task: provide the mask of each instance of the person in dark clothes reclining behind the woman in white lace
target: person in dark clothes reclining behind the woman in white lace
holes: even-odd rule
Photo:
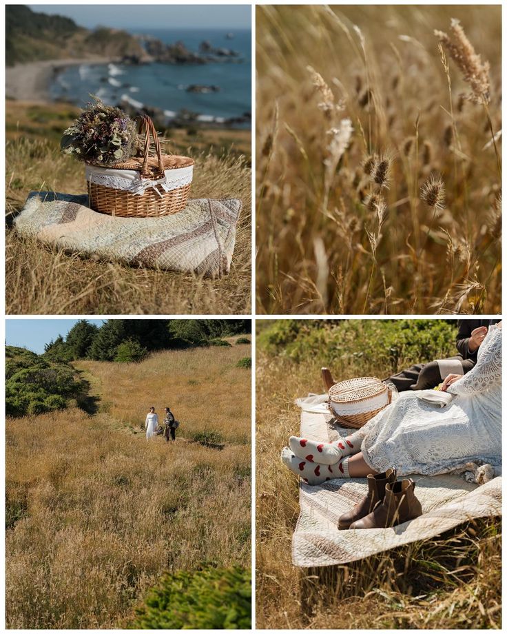
[[[448,359],[438,359],[429,363],[413,365],[389,378],[399,392],[408,389],[433,389],[448,374],[466,374],[477,362],[477,351],[488,333],[491,324],[500,319],[460,319],[456,336],[458,354]]]

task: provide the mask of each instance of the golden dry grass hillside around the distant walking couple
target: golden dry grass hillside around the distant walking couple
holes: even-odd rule
[[[249,346],[79,362],[72,407],[6,424],[8,628],[117,628],[163,571],[250,566]],[[149,405],[175,444],[147,442]],[[215,431],[220,448],[192,438]]]

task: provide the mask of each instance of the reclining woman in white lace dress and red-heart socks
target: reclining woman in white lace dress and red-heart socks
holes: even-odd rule
[[[491,325],[465,374],[450,374],[443,391],[454,394],[442,409],[402,392],[358,431],[338,442],[292,436],[282,462],[309,484],[331,478],[363,478],[393,467],[398,475],[436,475],[466,462],[501,470],[501,323]],[[332,474],[332,475],[331,475]]]

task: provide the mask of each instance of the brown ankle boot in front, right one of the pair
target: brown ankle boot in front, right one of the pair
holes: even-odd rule
[[[384,500],[369,515],[354,522],[349,528],[385,529],[418,518],[422,515],[422,508],[421,502],[414,495],[414,487],[415,482],[408,479],[386,484]]]

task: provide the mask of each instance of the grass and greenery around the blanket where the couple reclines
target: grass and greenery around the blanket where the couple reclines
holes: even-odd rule
[[[448,354],[451,327],[435,327],[431,336],[424,331],[420,323],[413,346],[407,337],[394,369],[411,364],[424,349],[428,356],[423,359],[433,358],[436,350]],[[501,628],[500,518],[476,520],[351,564],[300,569],[291,562],[298,482],[280,461],[280,451],[289,436],[298,435],[294,400],[324,391],[323,365],[335,380],[389,376],[393,354],[388,346],[391,336],[400,341],[401,333],[370,320],[321,327],[304,320],[299,328],[262,321],[256,358],[258,628]],[[366,354],[372,343],[383,354]]]

